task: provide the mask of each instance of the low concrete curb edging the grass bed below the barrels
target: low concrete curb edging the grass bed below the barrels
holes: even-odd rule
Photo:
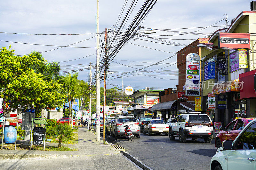
[[[52,159],[52,158],[70,158],[79,155],[42,155],[42,154],[0,154],[0,160],[21,160],[21,159]]]

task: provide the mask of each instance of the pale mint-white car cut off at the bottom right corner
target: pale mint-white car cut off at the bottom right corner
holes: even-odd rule
[[[211,160],[211,170],[256,170],[256,119],[236,139],[224,140]]]

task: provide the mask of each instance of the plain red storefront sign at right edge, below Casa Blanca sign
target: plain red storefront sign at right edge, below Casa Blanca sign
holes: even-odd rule
[[[243,86],[240,88],[240,99],[256,97],[256,70],[248,71],[239,74],[240,83]]]

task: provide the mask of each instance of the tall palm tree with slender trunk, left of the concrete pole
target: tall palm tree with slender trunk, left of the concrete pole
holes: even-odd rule
[[[75,100],[76,97],[79,97],[81,95],[82,91],[82,82],[77,80],[78,74],[75,73],[71,75],[68,73],[67,76],[61,77],[60,82],[63,84],[62,87],[62,93],[66,96],[66,99],[68,100],[69,104],[69,110],[68,110],[68,118],[69,122],[68,124],[71,126],[72,124],[72,103]]]

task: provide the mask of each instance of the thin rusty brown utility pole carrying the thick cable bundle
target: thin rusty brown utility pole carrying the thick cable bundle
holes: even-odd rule
[[[107,28],[105,29],[105,59],[104,59],[104,104],[103,104],[103,143],[105,144],[106,138],[106,127],[105,127],[105,117],[106,117],[106,80],[107,80]]]

